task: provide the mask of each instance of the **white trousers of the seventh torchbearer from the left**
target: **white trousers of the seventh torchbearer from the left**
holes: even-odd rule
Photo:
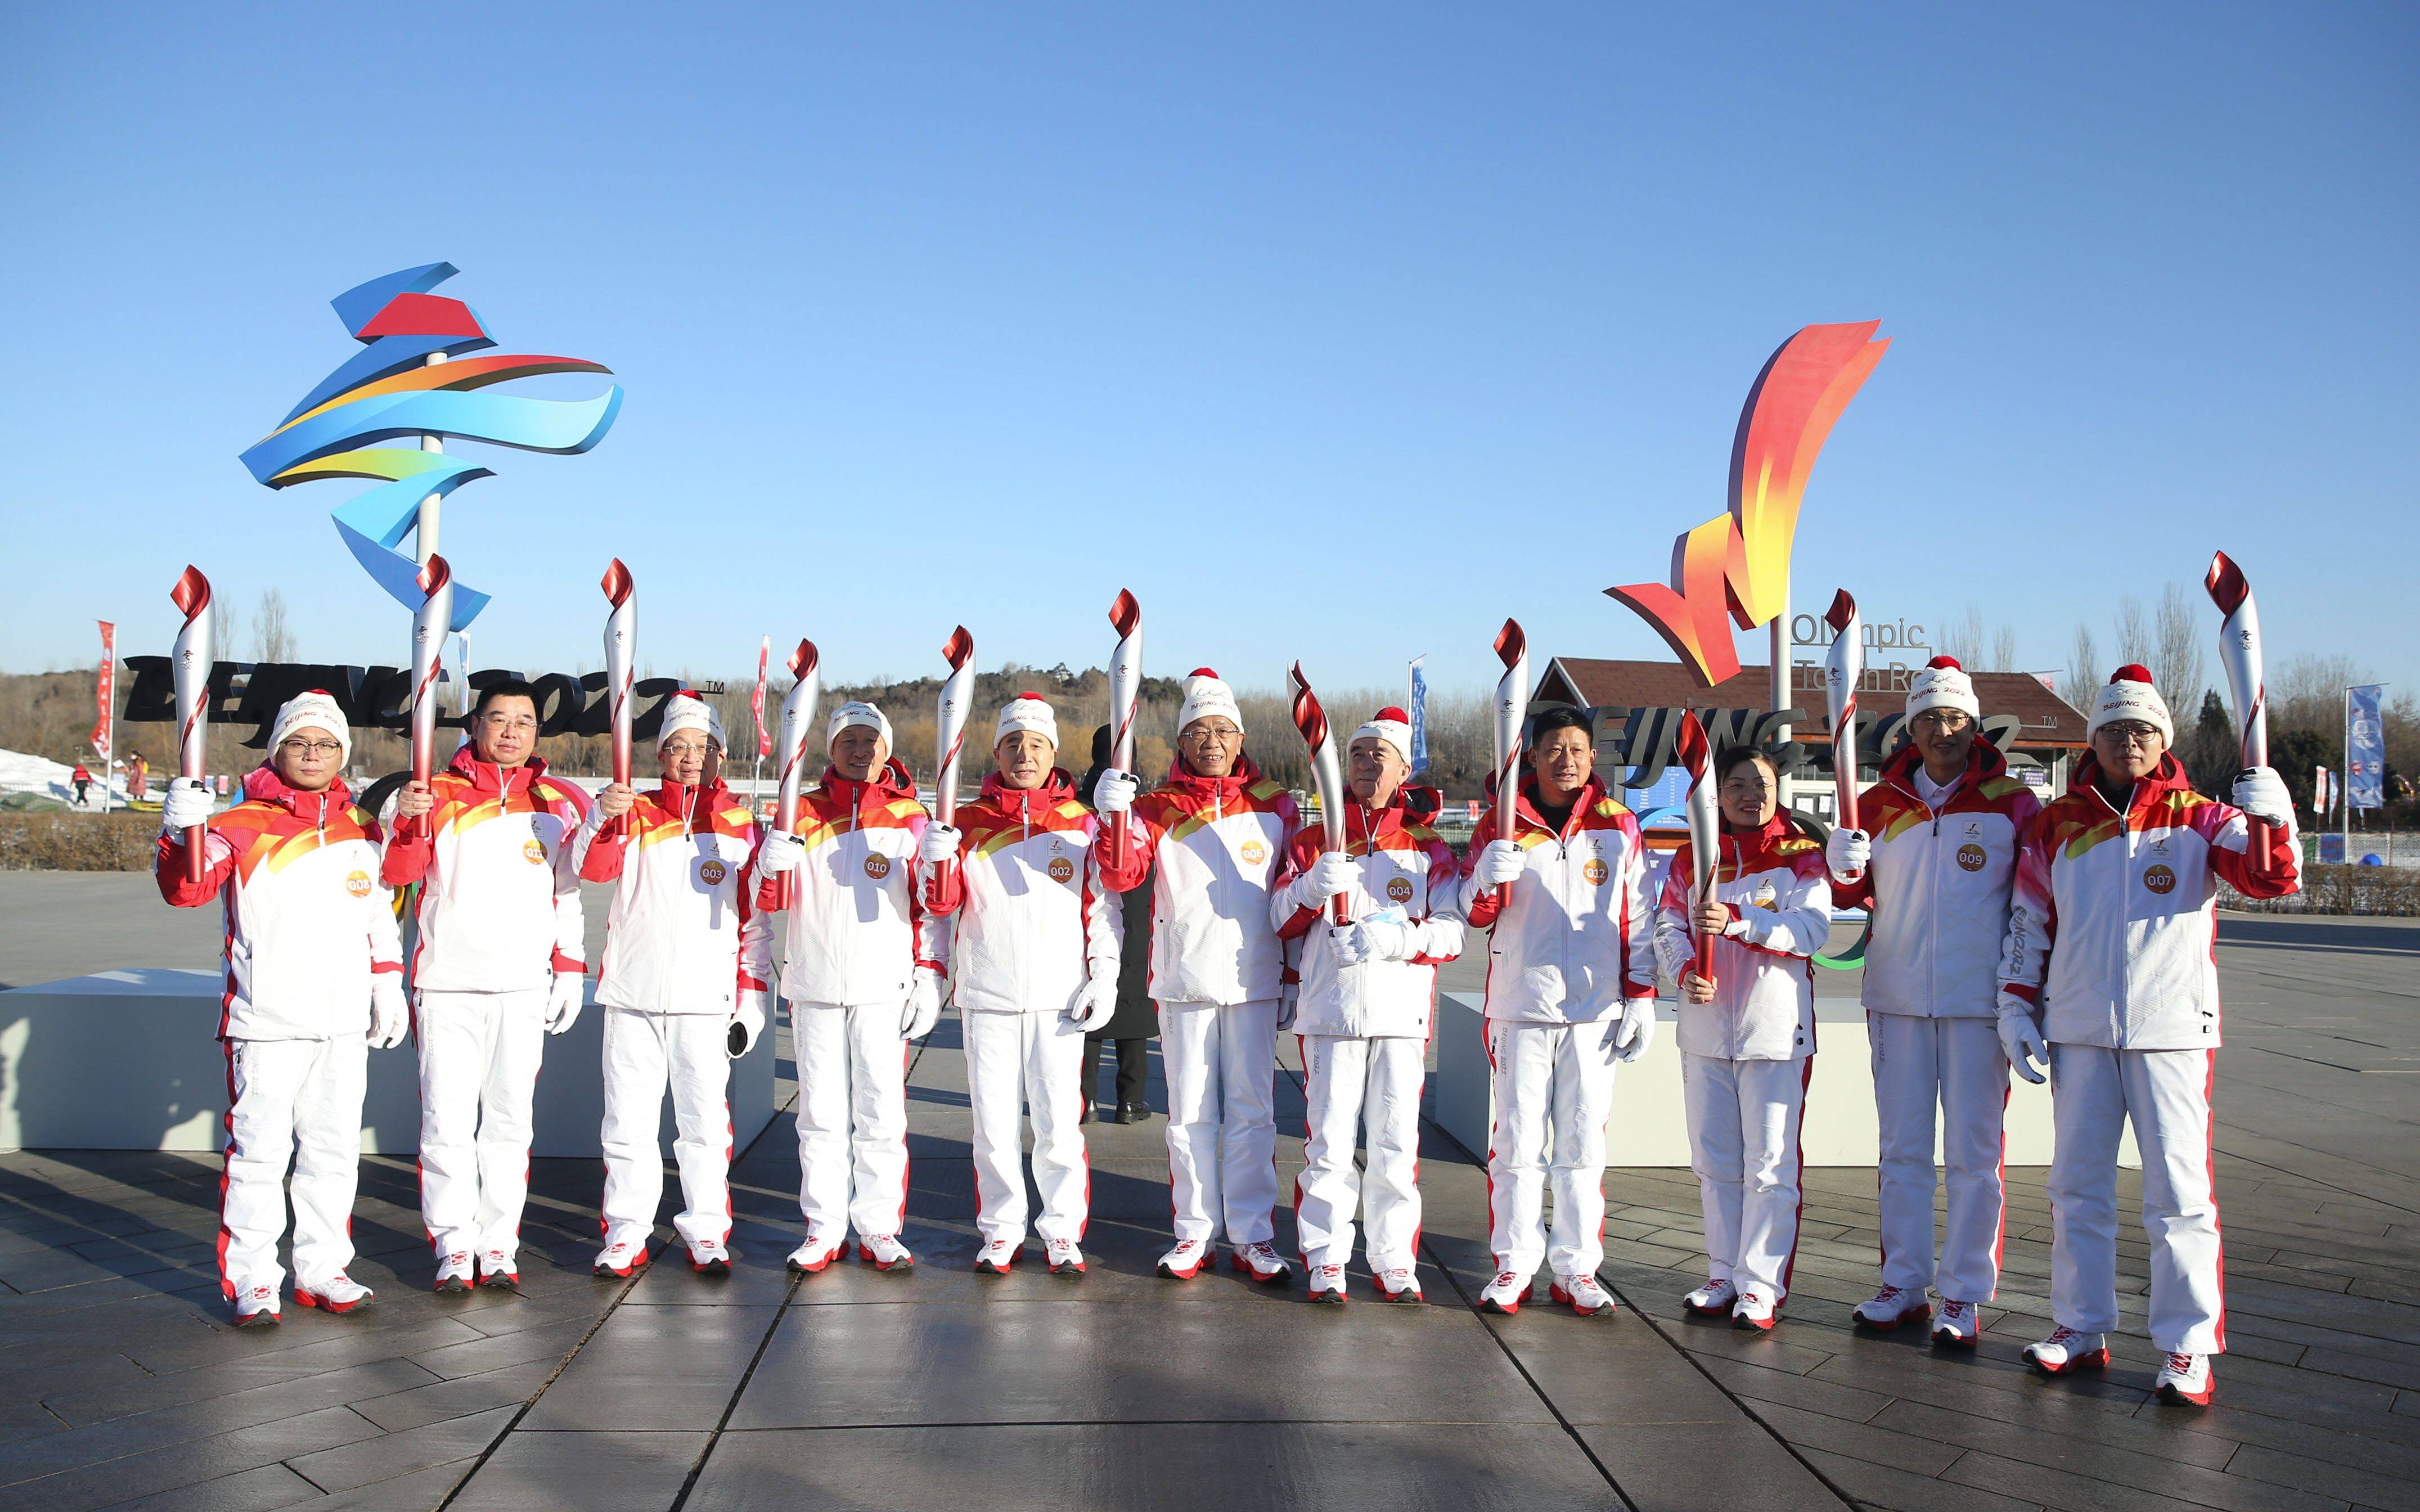
[[[1367,1227],[1370,1270],[1411,1270],[1421,1251],[1423,1040],[1302,1035],[1309,1103],[1295,1234],[1304,1265],[1353,1260],[1353,1210]],[[1367,1173],[1353,1147],[1370,1139]]]

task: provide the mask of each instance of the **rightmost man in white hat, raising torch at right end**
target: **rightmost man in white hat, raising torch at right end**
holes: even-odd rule
[[[2118,1326],[2118,1139],[2134,1125],[2151,1246],[2161,1401],[2207,1406],[2226,1350],[2209,1086],[2219,1055],[2219,883],[2301,888],[2294,803],[2270,767],[2234,803],[2193,791],[2168,704],[2139,665],[2093,697],[2091,752],[2026,835],[1999,963],[1999,1038],[2028,1081],[2050,1064],[2050,1338],[2045,1374],[2108,1364]]]

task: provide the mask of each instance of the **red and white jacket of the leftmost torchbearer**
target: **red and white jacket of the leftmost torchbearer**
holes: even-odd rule
[[[394,893],[378,881],[378,820],[336,781],[298,793],[269,767],[201,837],[186,881],[184,830],[160,837],[152,878],[177,907],[213,898],[227,917],[223,1040],[332,1040],[370,1031],[370,975],[404,970]]]

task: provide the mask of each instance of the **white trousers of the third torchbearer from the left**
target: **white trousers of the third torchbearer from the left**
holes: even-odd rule
[[[636,1243],[656,1234],[663,1202],[663,1093],[673,1093],[673,1161],[680,1166],[682,1210],[673,1229],[682,1243],[731,1239],[731,1021],[721,1014],[605,1014],[605,1243]]]

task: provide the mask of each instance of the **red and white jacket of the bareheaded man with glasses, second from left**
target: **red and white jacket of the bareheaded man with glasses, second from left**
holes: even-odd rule
[[[385,881],[421,883],[414,989],[523,992],[583,970],[571,835],[588,796],[537,757],[499,767],[469,745],[428,786],[436,803],[411,839],[392,837],[392,806],[385,820]]]

